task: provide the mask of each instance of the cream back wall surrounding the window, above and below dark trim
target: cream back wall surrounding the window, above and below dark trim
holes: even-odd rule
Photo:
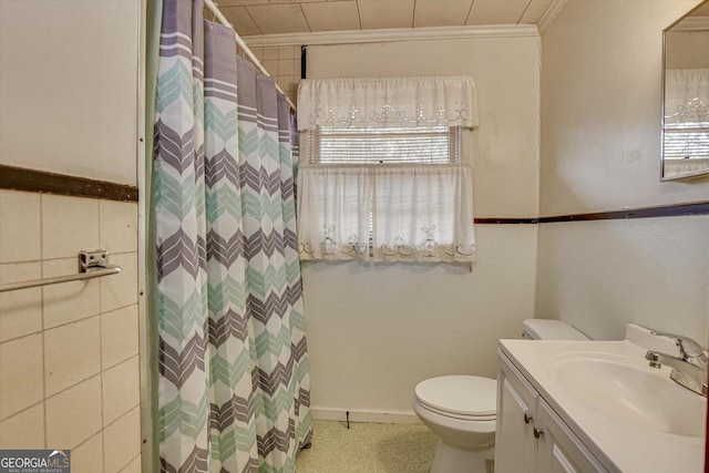
[[[473,75],[480,127],[463,154],[476,217],[537,215],[538,68],[536,35],[308,48],[308,78]],[[518,337],[533,315],[536,227],[476,225],[472,273],[304,265],[314,415],[410,413],[423,379],[495,377],[497,339]]]

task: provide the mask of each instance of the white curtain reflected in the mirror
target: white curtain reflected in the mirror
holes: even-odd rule
[[[666,72],[665,126],[709,126],[709,69]]]

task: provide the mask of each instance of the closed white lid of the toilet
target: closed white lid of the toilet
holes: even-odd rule
[[[470,376],[448,376],[421,381],[415,388],[419,402],[444,413],[490,418],[497,409],[497,381]]]

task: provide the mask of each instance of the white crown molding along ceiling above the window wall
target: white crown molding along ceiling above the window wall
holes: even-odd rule
[[[386,30],[319,31],[243,37],[249,48],[275,45],[362,44],[395,41],[453,40],[472,38],[538,38],[535,24],[475,27],[392,28]]]

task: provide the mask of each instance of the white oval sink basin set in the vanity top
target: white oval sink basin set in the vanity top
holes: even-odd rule
[[[669,370],[643,359],[565,353],[548,364],[577,401],[616,421],[674,435],[703,436],[706,399],[669,379]]]

